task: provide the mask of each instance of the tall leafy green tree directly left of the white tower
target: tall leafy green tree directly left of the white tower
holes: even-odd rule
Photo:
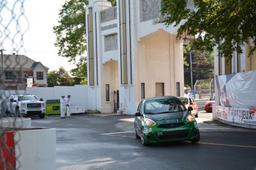
[[[116,1],[111,1],[116,5]],[[68,58],[69,62],[75,63],[76,68],[71,69],[73,75],[87,76],[86,53],[86,30],[85,30],[85,6],[88,0],[68,0],[59,10],[58,25],[53,27],[56,34],[55,47],[58,55]],[[77,60],[77,56],[81,56]]]

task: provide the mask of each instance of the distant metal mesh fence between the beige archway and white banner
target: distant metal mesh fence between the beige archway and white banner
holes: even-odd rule
[[[199,99],[210,98],[214,95],[214,78],[197,80],[194,84],[194,91]]]

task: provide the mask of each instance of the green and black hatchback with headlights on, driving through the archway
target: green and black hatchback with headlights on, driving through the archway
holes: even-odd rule
[[[174,96],[143,99],[135,113],[135,134],[146,146],[151,143],[190,140],[197,143],[200,132],[197,121],[186,106]]]

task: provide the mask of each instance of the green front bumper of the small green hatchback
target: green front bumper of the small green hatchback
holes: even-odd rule
[[[172,141],[193,140],[198,137],[197,123],[184,123],[183,126],[159,128],[144,126],[146,143],[165,143]]]

